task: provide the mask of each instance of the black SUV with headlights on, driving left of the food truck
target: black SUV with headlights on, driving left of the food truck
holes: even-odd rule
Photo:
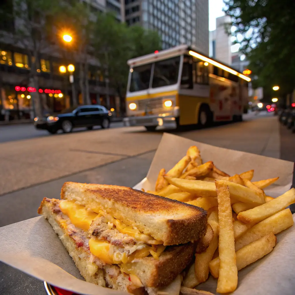
[[[45,129],[54,134],[58,130],[68,133],[75,127],[87,127],[100,125],[101,128],[109,128],[112,113],[104,106],[86,105],[66,109],[60,114],[46,114],[43,118],[35,118],[34,125],[37,129]]]

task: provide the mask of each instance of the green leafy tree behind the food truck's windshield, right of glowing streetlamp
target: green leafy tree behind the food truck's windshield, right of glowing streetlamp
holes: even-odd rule
[[[160,50],[160,44],[156,32],[138,26],[127,27],[125,23],[117,22],[111,13],[97,16],[93,31],[94,55],[104,69],[109,86],[116,90],[121,100],[126,94],[127,60]]]

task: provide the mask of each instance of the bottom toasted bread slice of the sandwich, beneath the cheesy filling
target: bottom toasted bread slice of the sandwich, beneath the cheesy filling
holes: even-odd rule
[[[167,247],[158,259],[152,256],[136,259],[125,267],[122,265],[121,271],[118,265],[105,264],[90,253],[88,233],[71,224],[59,209],[59,203],[58,199],[44,198],[38,213],[48,219],[88,282],[140,294],[141,290],[129,281],[129,275],[123,270],[135,274],[145,287],[163,287],[173,281],[194,256],[196,245],[189,242]]]

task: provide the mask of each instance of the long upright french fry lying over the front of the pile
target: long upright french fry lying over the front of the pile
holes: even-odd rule
[[[220,259],[216,292],[227,293],[235,291],[238,283],[232,208],[230,206],[230,190],[227,182],[216,181],[215,185],[218,200],[218,250]]]

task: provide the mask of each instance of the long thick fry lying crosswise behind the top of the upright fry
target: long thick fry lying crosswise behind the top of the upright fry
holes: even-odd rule
[[[179,187],[182,191],[187,191],[191,194],[202,197],[217,196],[215,183],[202,180],[186,180],[180,178],[171,178],[168,176],[164,177],[170,184]],[[265,203],[263,194],[260,194],[256,191],[253,191],[252,189],[249,189],[248,187],[242,186],[237,183],[225,180],[220,181],[224,182],[224,184],[229,187],[230,196],[237,201],[258,204]]]

